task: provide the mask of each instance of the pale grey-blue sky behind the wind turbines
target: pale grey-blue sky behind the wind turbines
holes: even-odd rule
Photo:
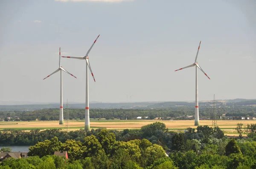
[[[59,102],[62,55],[84,56],[90,101],[256,99],[254,0],[1,0],[0,101]],[[76,1],[76,0],[74,0]],[[85,101],[85,61],[62,59],[64,101]]]

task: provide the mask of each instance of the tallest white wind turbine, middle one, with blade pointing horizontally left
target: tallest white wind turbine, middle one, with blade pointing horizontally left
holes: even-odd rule
[[[95,39],[93,42],[93,45],[97,41],[99,36]],[[73,59],[84,59],[86,61],[86,87],[85,87],[85,122],[84,122],[84,130],[90,130],[90,115],[89,115],[89,83],[88,83],[88,68],[90,69],[90,72],[93,76],[93,71],[90,67],[89,57],[88,54],[90,50],[93,48],[93,45],[91,45],[90,49],[87,51],[85,56],[61,56],[66,58],[73,58]],[[95,82],[95,78],[93,76],[93,80]]]

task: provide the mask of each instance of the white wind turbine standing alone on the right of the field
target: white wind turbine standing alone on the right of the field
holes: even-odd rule
[[[197,51],[196,56],[195,56],[195,62],[194,62],[192,65],[189,65],[189,66],[186,66],[186,67],[184,67],[184,68],[178,69],[178,70],[182,70],[182,69],[185,69],[185,68],[189,68],[189,67],[195,66],[195,126],[199,126],[199,112],[198,112],[198,109],[199,109],[199,107],[198,107],[198,73],[197,73],[197,68],[200,69],[200,70],[205,74],[205,76],[207,76],[207,74],[204,72],[204,70],[198,65],[198,62],[196,62],[200,45],[201,45],[201,41],[200,41],[200,43],[199,43],[198,51]],[[175,70],[175,71],[177,71],[177,70]],[[207,76],[207,77],[209,78],[209,76]],[[210,78],[209,78],[209,79],[210,79]]]

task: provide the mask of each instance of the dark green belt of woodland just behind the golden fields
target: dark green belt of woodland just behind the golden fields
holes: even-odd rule
[[[67,111],[69,112],[70,119],[84,119],[84,109],[64,109],[64,118]],[[210,117],[212,107],[201,106],[200,117]],[[90,118],[120,118],[120,119],[135,119],[138,116],[146,116],[148,119],[155,117],[176,117],[177,119],[184,120],[186,115],[194,115],[194,107],[182,106],[171,107],[168,109],[91,109]],[[217,107],[218,118],[222,114],[226,116],[234,116],[241,119],[242,116],[249,115],[256,117],[255,106],[239,106],[239,107]],[[11,117],[8,119],[7,117]],[[38,120],[58,120],[59,109],[42,109],[34,111],[0,111],[0,118],[6,121],[34,121]],[[19,118],[19,119],[18,119]]]

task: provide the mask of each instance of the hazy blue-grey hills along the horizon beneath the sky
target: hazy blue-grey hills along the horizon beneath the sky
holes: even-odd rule
[[[201,105],[211,105],[212,101],[200,101]],[[227,105],[227,106],[241,106],[241,105],[256,105],[256,99],[233,99],[227,101],[216,100],[217,105]],[[134,103],[100,103],[94,102],[90,103],[90,108],[100,108],[100,109],[163,109],[169,107],[180,107],[180,106],[195,106],[195,102],[186,101],[166,101],[166,102],[134,102]],[[31,111],[31,110],[41,110],[41,109],[54,109],[59,108],[59,103],[50,104],[23,104],[23,105],[0,105],[0,110],[11,110],[11,111]],[[64,104],[66,108],[66,104]],[[68,108],[73,109],[84,109],[85,104],[81,103],[69,103]]]

